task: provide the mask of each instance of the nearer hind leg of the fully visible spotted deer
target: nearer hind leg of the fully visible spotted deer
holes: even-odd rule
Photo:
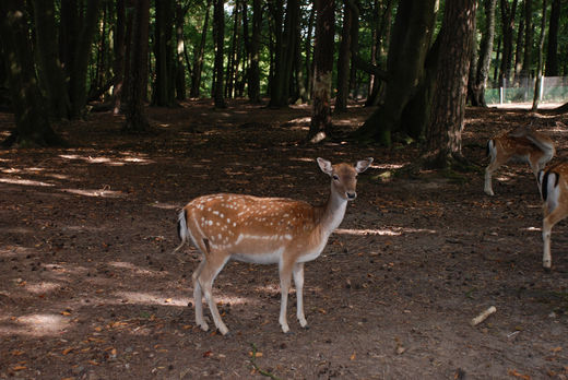
[[[223,323],[223,320],[221,319],[221,316],[217,310],[217,305],[215,302],[215,299],[213,298],[213,282],[215,281],[215,277],[217,276],[218,272],[225,266],[225,264],[228,261],[228,257],[220,257],[217,258],[214,254],[208,254],[206,259],[203,261],[204,265],[201,269],[201,272],[197,276],[197,286],[196,289],[199,287],[203,295],[205,296],[205,301],[208,302],[209,310],[211,311],[211,316],[213,317],[213,322],[215,323],[215,326],[217,330],[225,335],[228,332],[227,326],[225,323]],[[197,308],[196,308],[196,318],[198,317]],[[203,316],[201,316],[203,318]],[[206,323],[205,325],[201,325],[201,329],[206,331]]]

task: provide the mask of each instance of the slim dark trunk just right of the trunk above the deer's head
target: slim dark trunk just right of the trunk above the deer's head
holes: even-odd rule
[[[340,51],[338,55],[338,93],[335,95],[335,112],[347,110],[347,95],[350,93],[350,62],[351,62],[351,25],[352,10],[348,0],[343,2],[343,31],[341,33]]]

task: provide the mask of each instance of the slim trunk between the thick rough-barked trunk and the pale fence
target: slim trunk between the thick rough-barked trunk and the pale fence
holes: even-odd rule
[[[472,105],[476,107],[487,107],[485,103],[485,86],[487,85],[492,63],[496,3],[497,0],[485,0],[483,2],[485,9],[485,31],[483,31],[482,40],[480,43],[477,67],[470,68],[470,71],[474,72],[474,81],[469,84],[469,87],[472,95]]]

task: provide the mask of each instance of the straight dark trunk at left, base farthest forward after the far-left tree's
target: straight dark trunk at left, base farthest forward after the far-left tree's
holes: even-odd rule
[[[130,133],[144,132],[150,128],[144,115],[144,76],[147,73],[150,0],[135,1],[133,15],[130,69],[128,80],[128,102],[123,130]]]

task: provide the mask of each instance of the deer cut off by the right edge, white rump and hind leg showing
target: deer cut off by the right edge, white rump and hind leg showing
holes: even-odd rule
[[[543,266],[552,266],[551,234],[555,224],[568,216],[568,163],[560,163],[539,173],[543,199]]]

